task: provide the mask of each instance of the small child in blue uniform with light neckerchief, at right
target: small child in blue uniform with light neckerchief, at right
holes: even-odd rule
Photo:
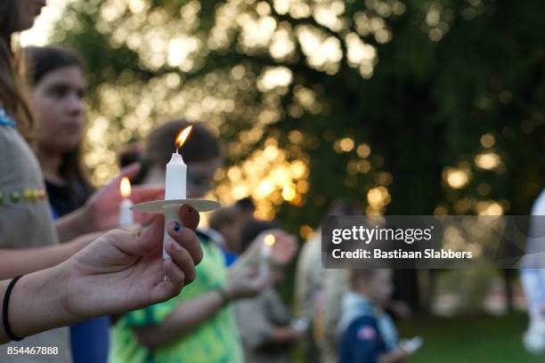
[[[383,310],[394,286],[391,270],[351,270],[338,325],[341,363],[395,363],[410,357],[399,347],[394,321]]]

